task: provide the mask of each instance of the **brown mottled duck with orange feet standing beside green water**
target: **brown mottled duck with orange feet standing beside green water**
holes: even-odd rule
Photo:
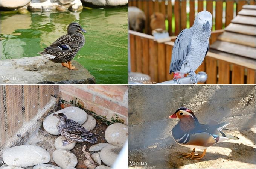
[[[71,60],[76,56],[76,53],[84,46],[85,38],[81,33],[86,31],[76,22],[72,22],[67,27],[67,34],[61,36],[49,47],[44,48],[39,52],[41,56],[52,60],[54,63],[61,63],[62,66],[70,70],[78,70],[75,66],[71,66]],[[67,63],[66,63],[67,62]]]

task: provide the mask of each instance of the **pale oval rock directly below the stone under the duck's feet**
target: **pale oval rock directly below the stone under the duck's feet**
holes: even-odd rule
[[[52,153],[52,159],[61,168],[75,167],[77,164],[75,154],[64,149],[56,149]]]

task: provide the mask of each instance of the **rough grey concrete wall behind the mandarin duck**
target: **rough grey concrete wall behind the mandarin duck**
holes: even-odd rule
[[[168,119],[179,107],[191,109],[200,123],[230,122],[232,131],[255,127],[255,85],[129,86],[129,149],[172,144]]]

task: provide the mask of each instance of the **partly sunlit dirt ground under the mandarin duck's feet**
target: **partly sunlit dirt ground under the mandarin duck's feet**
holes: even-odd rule
[[[227,140],[207,148],[201,160],[183,159],[181,154],[191,152],[177,144],[151,146],[129,151],[130,168],[255,168],[255,128],[236,131],[239,140]],[[201,154],[196,149],[195,153]],[[135,165],[131,166],[130,162]]]

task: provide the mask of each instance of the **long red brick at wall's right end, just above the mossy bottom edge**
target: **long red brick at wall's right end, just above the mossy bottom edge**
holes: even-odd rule
[[[119,104],[116,104],[113,101],[106,100],[104,98],[96,96],[94,103],[101,105],[107,109],[110,109],[114,112],[120,113],[121,115],[124,115],[126,117],[128,115],[128,109],[126,107],[120,106]]]

